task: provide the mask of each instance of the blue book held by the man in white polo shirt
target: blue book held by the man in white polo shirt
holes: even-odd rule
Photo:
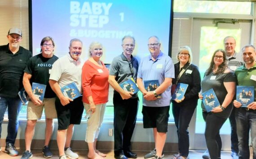
[[[72,82],[66,86],[63,86],[61,88],[62,94],[65,97],[68,97],[70,99],[76,99],[81,96],[78,87],[76,86],[75,82]]]

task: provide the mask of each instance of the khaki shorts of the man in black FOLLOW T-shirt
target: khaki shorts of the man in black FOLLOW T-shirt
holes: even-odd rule
[[[57,118],[57,112],[55,109],[55,98],[44,98],[41,105],[35,105],[33,102],[29,101],[26,109],[26,118],[28,120],[41,119],[43,110],[45,118]]]

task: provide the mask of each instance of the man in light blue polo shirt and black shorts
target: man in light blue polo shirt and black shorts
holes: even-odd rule
[[[143,127],[153,128],[155,148],[145,159],[162,159],[166,140],[171,100],[171,85],[174,78],[174,65],[171,57],[163,54],[159,38],[151,36],[148,40],[150,55],[139,64],[137,84],[143,94]],[[146,91],[144,82],[158,80],[154,91]],[[158,96],[161,96],[159,98]]]

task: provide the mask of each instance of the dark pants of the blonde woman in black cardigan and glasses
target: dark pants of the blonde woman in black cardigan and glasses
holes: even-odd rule
[[[189,155],[190,139],[188,127],[197,103],[190,104],[183,104],[182,102],[172,103],[172,114],[177,127],[179,152],[183,157],[188,157]]]

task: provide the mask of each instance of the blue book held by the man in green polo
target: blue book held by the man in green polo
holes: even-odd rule
[[[247,107],[254,102],[254,86],[236,86],[236,100]]]

